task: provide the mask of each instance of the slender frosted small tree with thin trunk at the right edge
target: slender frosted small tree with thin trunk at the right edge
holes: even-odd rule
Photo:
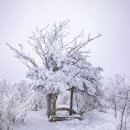
[[[125,121],[130,112],[130,84],[125,76],[119,74],[107,82],[106,97],[109,105],[114,108],[118,129],[125,130]]]

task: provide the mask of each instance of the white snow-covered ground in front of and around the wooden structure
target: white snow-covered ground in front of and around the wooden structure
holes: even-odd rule
[[[49,122],[45,111],[33,111],[27,114],[25,125],[14,130],[116,130],[117,124],[113,114],[92,111],[86,119],[62,122]]]

